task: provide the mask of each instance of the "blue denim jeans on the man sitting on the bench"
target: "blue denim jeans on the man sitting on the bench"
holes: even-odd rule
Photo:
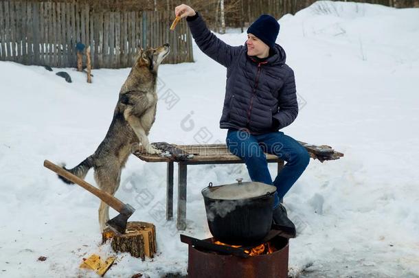
[[[245,130],[229,129],[226,142],[229,151],[245,161],[251,181],[275,185],[274,209],[280,205],[280,199],[306,170],[310,161],[307,150],[281,131],[251,135]],[[275,154],[286,161],[273,183],[264,152]]]

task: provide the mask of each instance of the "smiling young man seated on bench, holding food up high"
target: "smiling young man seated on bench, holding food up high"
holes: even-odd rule
[[[286,54],[275,40],[280,25],[262,14],[247,30],[244,46],[231,46],[208,30],[199,13],[182,4],[174,10],[186,17],[196,45],[227,68],[227,86],[220,128],[227,128],[229,151],[245,161],[252,181],[277,187],[273,222],[295,237],[295,225],[280,203],[306,169],[310,156],[295,139],[279,131],[298,114],[293,70],[285,64]],[[264,152],[286,161],[272,182]]]

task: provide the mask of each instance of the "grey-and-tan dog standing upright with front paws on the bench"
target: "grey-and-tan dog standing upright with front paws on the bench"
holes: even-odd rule
[[[120,91],[109,130],[98,149],[82,163],[66,169],[84,178],[91,167],[95,170],[98,187],[109,194],[115,194],[120,186],[122,167],[129,155],[137,150],[150,154],[160,151],[148,142],[148,133],[155,121],[157,106],[157,69],[169,54],[168,44],[157,49],[140,49],[135,65]],[[59,176],[65,183],[72,183]],[[100,202],[99,224],[104,229],[109,220],[109,206]]]

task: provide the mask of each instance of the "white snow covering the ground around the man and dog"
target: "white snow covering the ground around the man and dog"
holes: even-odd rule
[[[283,131],[345,153],[310,161],[284,199],[299,232],[290,242],[290,275],[419,277],[419,9],[321,1],[280,24],[302,108]],[[246,40],[238,32],[219,37]],[[161,66],[163,100],[150,141],[225,142],[218,128],[225,69],[196,45],[194,58]],[[93,84],[65,69],[68,84],[55,76],[60,70],[0,62],[2,277],[96,277],[78,268],[82,257],[113,255],[100,245],[98,198],[59,181],[43,160],[72,167],[94,152],[129,69],[94,70]],[[177,102],[168,102],[168,89]],[[245,165],[190,166],[186,234],[210,236],[201,189],[238,177],[249,180]],[[94,184],[93,171],[86,180]],[[131,156],[116,196],[137,209],[130,220],[157,225],[159,253],[145,262],[118,254],[105,277],[186,274],[187,245],[159,213],[165,185],[164,163]]]

